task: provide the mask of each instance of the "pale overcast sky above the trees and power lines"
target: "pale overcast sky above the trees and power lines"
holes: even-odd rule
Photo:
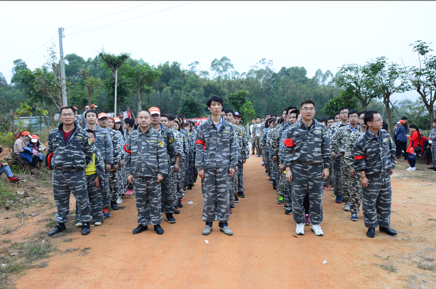
[[[364,64],[378,56],[418,65],[409,44],[434,42],[436,50],[431,15],[436,2],[149,2],[1,1],[0,72],[10,81],[19,58],[27,58],[31,69],[43,65],[51,42],[43,44],[53,36],[58,42],[59,27],[65,28],[64,55],[87,59],[104,47],[154,65],[178,61],[188,68],[199,61],[202,70],[226,56],[240,73],[262,58],[273,60],[275,71],[304,66],[308,77],[317,69],[336,74],[342,64]],[[189,4],[161,11],[183,3]],[[411,91],[392,98],[417,96]]]

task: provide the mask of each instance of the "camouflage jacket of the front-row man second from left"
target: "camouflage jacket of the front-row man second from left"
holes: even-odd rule
[[[127,140],[124,166],[126,175],[133,177],[164,176],[168,172],[168,154],[162,135],[151,125],[143,133],[141,128],[132,131]]]

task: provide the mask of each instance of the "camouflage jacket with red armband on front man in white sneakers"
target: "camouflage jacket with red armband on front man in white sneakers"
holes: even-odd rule
[[[285,167],[291,167],[293,162],[324,164],[324,168],[330,167],[332,150],[327,128],[322,122],[315,119],[307,130],[306,125],[300,119],[288,128],[283,134],[285,145],[283,146],[283,159]]]

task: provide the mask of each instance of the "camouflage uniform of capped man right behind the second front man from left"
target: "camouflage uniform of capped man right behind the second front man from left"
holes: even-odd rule
[[[161,206],[163,213],[174,213],[174,200],[171,186],[171,166],[176,162],[176,142],[173,132],[159,124],[158,132],[161,133],[164,142],[164,148],[168,153],[167,174],[163,176],[161,183]]]

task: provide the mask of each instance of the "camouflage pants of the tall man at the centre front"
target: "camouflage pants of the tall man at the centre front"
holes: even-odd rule
[[[220,222],[228,221],[229,183],[228,168],[205,168],[204,180],[201,181],[204,198],[203,221],[213,222],[215,215]]]

